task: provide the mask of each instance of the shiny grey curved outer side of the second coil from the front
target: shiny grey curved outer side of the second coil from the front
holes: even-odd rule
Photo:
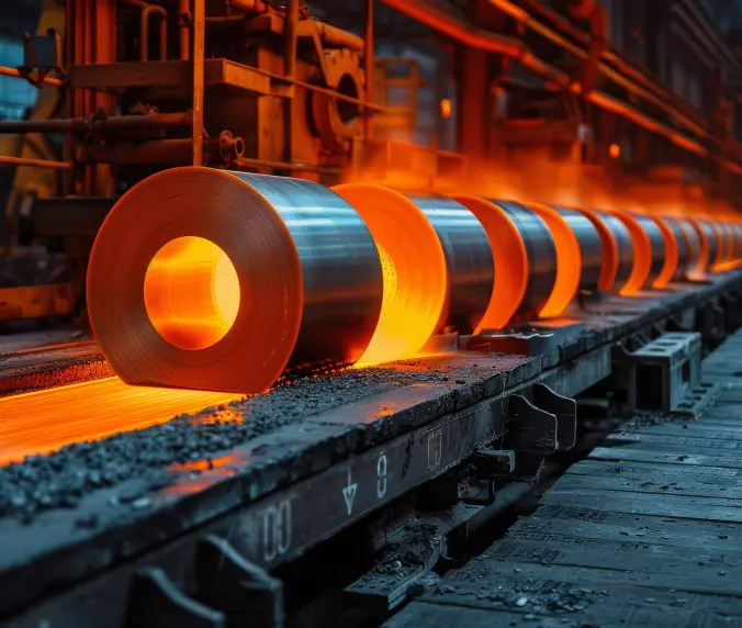
[[[470,334],[484,315],[495,281],[490,239],[476,216],[453,199],[406,192],[436,231],[446,256],[448,295],[442,326]]]

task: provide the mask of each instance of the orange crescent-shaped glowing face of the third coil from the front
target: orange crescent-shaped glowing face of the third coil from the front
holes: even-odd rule
[[[520,306],[528,284],[528,254],[518,228],[497,204],[470,194],[452,197],[480,221],[495,260],[495,285],[479,329],[502,329]]]

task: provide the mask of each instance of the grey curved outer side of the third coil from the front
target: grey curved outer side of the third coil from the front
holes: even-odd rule
[[[547,223],[527,206],[514,201],[492,200],[507,213],[522,238],[528,256],[528,285],[514,318],[536,318],[556,281],[556,246]]]

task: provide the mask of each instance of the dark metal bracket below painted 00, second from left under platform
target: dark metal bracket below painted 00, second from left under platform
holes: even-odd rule
[[[199,598],[233,623],[251,628],[282,628],[283,584],[248,562],[226,539],[209,536],[196,550]]]

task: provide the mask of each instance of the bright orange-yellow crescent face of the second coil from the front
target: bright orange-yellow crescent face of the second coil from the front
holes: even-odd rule
[[[415,203],[390,188],[347,183],[333,190],[363,218],[382,262],[381,314],[359,365],[412,358],[435,332],[446,303],[448,276],[438,235]]]

